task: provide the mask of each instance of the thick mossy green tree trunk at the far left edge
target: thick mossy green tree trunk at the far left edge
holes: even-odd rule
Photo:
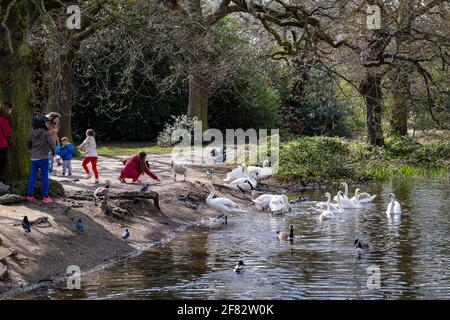
[[[4,14],[4,3],[1,3]],[[17,7],[26,7],[17,11]],[[17,21],[32,21],[38,12],[33,1],[18,1],[11,7],[6,27],[0,32],[0,101],[9,101],[13,105],[11,117],[12,134],[9,138],[6,167],[0,173],[0,179],[6,183],[28,176],[30,151],[27,140],[31,132],[31,118],[34,105],[33,74],[37,66],[36,57],[26,40],[28,26]],[[26,16],[22,16],[25,14]]]

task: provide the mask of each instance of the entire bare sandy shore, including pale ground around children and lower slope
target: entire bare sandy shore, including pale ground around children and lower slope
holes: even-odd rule
[[[117,176],[125,157],[99,157],[100,185],[109,183],[112,193],[137,191],[142,184],[121,184]],[[142,183],[150,183],[150,190],[159,193],[158,210],[151,200],[121,202],[111,200],[117,207],[124,207],[129,214],[122,219],[105,215],[93,201],[71,200],[70,195],[80,190],[93,191],[98,186],[93,180],[84,180],[81,162],[73,160],[73,177],[61,177],[61,167],[52,177],[64,185],[67,198],[55,199],[55,203],[24,203],[18,205],[0,205],[0,297],[11,296],[17,290],[35,285],[45,285],[56,278],[66,275],[68,266],[76,265],[82,272],[144,249],[177,232],[182,226],[198,223],[218,215],[207,207],[208,195],[201,183],[206,181],[205,167],[189,169],[187,181],[173,181],[170,170],[170,155],[151,155],[150,164],[161,182],[156,183],[148,176],[142,177]],[[229,166],[215,165],[213,181],[221,183],[221,178]],[[80,178],[80,181],[73,181]],[[182,177],[178,177],[182,180]],[[198,203],[192,207],[192,201],[179,200],[179,195],[190,194]],[[226,195],[243,207],[250,205],[249,200],[239,194],[222,189],[218,195]],[[32,227],[31,235],[26,237],[20,221],[27,215],[32,221],[47,217],[48,223]],[[75,221],[81,218],[85,232],[75,229]],[[130,239],[122,240],[125,228],[130,231]]]

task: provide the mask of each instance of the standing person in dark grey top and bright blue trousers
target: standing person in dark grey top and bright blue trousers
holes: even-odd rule
[[[31,169],[30,177],[28,179],[28,187],[26,199],[28,201],[35,201],[34,186],[38,172],[41,171],[42,176],[42,201],[53,202],[48,195],[49,180],[48,180],[48,166],[49,166],[49,150],[51,156],[55,156],[55,145],[53,144],[47,125],[51,120],[45,115],[36,115],[33,117],[33,130],[28,139],[27,146],[31,149]]]

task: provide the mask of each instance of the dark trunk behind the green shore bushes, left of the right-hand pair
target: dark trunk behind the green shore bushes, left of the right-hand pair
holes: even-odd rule
[[[381,80],[381,76],[371,74],[368,71],[360,84],[360,92],[367,107],[367,141],[376,146],[384,145],[381,127]]]

